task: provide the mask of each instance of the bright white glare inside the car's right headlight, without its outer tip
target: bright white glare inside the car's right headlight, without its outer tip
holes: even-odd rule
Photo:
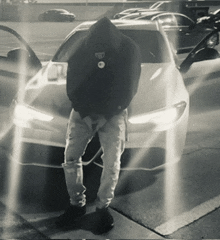
[[[177,109],[169,108],[159,112],[134,116],[129,118],[128,121],[132,124],[144,124],[147,122],[156,125],[169,124],[171,122],[174,122],[177,116],[178,116]]]

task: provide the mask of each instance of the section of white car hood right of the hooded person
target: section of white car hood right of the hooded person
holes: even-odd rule
[[[174,64],[143,64],[138,92],[129,106],[130,115],[143,114],[174,104],[178,78],[181,76]]]

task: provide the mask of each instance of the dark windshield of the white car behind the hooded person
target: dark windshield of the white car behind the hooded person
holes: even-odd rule
[[[142,63],[170,62],[170,54],[167,45],[158,31],[146,30],[121,30],[123,34],[133,39],[141,50]],[[57,51],[53,61],[67,62],[81,39],[88,31],[77,31]]]

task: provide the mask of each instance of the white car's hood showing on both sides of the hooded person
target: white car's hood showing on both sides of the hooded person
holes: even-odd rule
[[[52,62],[30,81],[25,103],[43,112],[69,117],[71,102],[66,94],[66,81],[40,83]],[[172,105],[176,81],[181,78],[174,64],[142,64],[138,93],[128,110],[129,115],[142,114]],[[172,99],[172,101],[171,101]]]

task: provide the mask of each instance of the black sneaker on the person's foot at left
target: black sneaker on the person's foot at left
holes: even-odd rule
[[[74,224],[80,217],[86,214],[86,206],[79,207],[70,205],[56,221],[58,227],[68,227]]]

